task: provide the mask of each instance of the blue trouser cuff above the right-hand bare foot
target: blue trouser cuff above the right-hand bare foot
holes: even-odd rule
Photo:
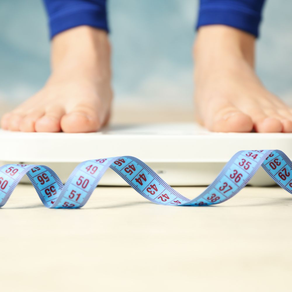
[[[200,0],[197,29],[203,25],[228,25],[259,36],[265,0]]]

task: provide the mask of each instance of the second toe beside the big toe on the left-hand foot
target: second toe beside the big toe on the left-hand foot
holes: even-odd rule
[[[62,108],[53,108],[47,110],[44,116],[37,119],[35,122],[36,132],[60,132],[61,125],[60,121],[62,116],[65,114]]]

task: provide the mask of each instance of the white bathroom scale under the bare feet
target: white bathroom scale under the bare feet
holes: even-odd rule
[[[0,163],[44,164],[65,182],[78,163],[138,157],[173,186],[209,185],[239,150],[279,149],[292,157],[290,133],[213,133],[193,124],[111,125],[97,133],[22,133],[0,130]],[[29,182],[23,178],[22,182]],[[126,185],[108,170],[100,185]],[[251,185],[273,185],[260,168]]]

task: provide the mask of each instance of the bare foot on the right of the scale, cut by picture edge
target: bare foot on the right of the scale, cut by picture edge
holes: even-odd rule
[[[194,46],[197,119],[216,132],[292,132],[292,110],[254,72],[255,38],[201,27]]]

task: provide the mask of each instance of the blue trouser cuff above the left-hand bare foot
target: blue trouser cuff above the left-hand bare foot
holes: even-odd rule
[[[49,18],[50,37],[79,25],[109,31],[106,0],[44,0]]]

